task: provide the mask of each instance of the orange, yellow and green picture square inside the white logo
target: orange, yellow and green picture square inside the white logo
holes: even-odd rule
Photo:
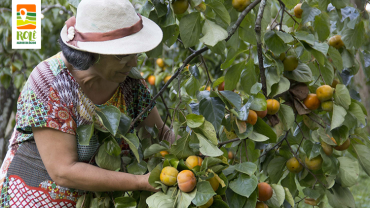
[[[36,4],[17,5],[17,29],[36,29]]]

